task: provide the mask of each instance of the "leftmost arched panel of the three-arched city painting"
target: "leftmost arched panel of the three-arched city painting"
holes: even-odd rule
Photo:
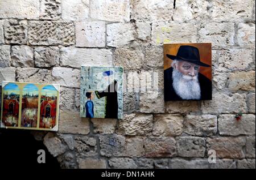
[[[3,87],[2,123],[5,126],[18,127],[19,91],[15,83],[8,83]]]

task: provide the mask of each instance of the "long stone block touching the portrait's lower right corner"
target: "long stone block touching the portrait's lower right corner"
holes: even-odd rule
[[[235,93],[229,96],[214,93],[212,101],[203,101],[201,108],[204,114],[245,113],[247,112],[246,95]]]

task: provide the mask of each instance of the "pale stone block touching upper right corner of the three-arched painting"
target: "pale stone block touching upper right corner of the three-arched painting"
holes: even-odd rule
[[[56,84],[71,88],[80,87],[80,70],[66,67],[53,67],[52,76]]]

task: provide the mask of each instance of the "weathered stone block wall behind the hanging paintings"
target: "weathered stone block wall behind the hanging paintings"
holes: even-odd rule
[[[212,101],[164,102],[169,42],[212,42]],[[158,72],[158,95],[80,118],[81,65]],[[1,0],[0,80],[61,84],[59,132],[32,133],[63,168],[255,168],[255,0]]]

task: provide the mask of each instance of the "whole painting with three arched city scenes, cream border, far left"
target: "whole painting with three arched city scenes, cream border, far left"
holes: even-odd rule
[[[2,82],[1,128],[57,131],[59,85]]]

